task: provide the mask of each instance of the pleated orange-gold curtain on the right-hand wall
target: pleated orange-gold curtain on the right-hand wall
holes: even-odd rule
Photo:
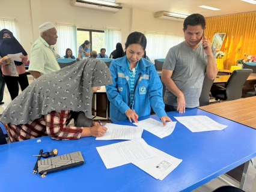
[[[233,36],[233,52],[230,55],[230,59],[224,62],[225,69],[230,70],[232,65],[237,65],[235,50],[241,35],[242,57],[243,53],[256,56],[256,12],[206,18],[205,36],[211,37],[212,41],[216,32],[226,32],[230,40]],[[222,51],[224,51],[227,35],[221,48]]]

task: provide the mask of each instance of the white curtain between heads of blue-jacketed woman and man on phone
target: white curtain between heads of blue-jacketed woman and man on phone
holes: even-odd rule
[[[184,41],[183,36],[145,32],[147,56],[150,60],[164,59],[168,50]]]

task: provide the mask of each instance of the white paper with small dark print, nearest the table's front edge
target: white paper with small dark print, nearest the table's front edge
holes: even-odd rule
[[[181,163],[182,160],[172,157],[159,149],[153,148],[153,146],[150,147],[157,154],[157,157],[136,161],[133,162],[133,164],[153,176],[153,178],[162,181]]]

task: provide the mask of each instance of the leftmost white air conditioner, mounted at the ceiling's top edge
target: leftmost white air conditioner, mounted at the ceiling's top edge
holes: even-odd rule
[[[108,11],[112,13],[117,13],[118,11],[121,11],[123,8],[121,7],[121,4],[115,4],[113,2],[99,0],[73,0],[71,4],[76,7],[90,8],[94,10]]]

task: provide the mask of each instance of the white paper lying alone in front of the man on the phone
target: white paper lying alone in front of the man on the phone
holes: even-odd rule
[[[177,121],[183,124],[192,132],[224,130],[228,125],[219,124],[208,116],[174,116]]]

